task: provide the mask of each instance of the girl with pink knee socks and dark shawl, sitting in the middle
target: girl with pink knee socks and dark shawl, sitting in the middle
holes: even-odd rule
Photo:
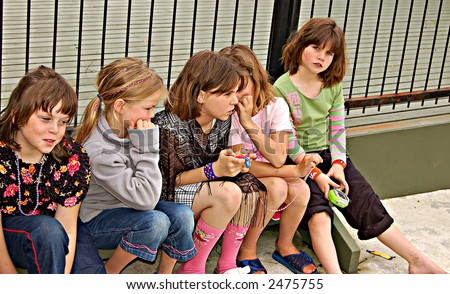
[[[265,187],[246,160],[228,146],[231,115],[243,86],[240,72],[216,52],[192,56],[170,88],[165,110],[155,116],[161,133],[163,197],[192,207],[198,254],[178,273],[205,273],[206,259],[223,235],[217,273],[247,273],[236,255]],[[250,163],[250,162],[248,162]]]

